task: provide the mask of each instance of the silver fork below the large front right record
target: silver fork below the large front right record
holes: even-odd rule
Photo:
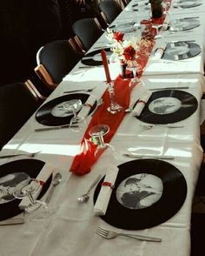
[[[142,241],[162,242],[162,239],[159,239],[159,238],[154,238],[154,237],[149,237],[149,236],[142,236],[142,235],[138,235],[138,234],[130,234],[130,233],[109,231],[109,230],[106,230],[106,229],[104,229],[100,226],[97,227],[96,233],[104,239],[114,239],[117,236],[125,236],[125,237],[129,237],[129,238],[132,238],[132,239],[138,239],[138,240],[142,240]]]

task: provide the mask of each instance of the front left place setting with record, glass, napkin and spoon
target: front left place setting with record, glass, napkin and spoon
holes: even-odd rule
[[[0,165],[0,171],[0,226],[49,217],[54,187],[62,180],[54,166],[38,159],[19,159]]]

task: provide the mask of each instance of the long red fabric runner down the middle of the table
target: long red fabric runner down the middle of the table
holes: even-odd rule
[[[162,24],[165,17],[160,19],[152,20],[152,24]],[[153,29],[151,32],[153,33]],[[152,51],[155,41],[151,39],[152,44],[149,46],[149,53]],[[142,51],[143,52],[143,51]],[[149,55],[140,54],[139,51],[139,59],[138,64],[140,64],[141,69],[138,73],[138,77],[142,77],[142,72],[144,70],[145,65],[148,62]],[[122,105],[123,109],[129,107],[129,99],[130,99],[130,92],[135,87],[133,84],[129,86],[130,79],[122,79],[122,77],[117,77],[114,83],[115,87],[115,98],[116,102]],[[110,104],[109,92],[105,91],[103,96],[103,104],[98,107],[98,110],[94,114],[93,118],[91,119],[87,130],[85,131],[83,140],[81,142],[81,151],[73,160],[73,163],[70,167],[70,172],[74,172],[76,175],[83,175],[90,172],[92,165],[96,163],[96,160],[100,157],[103,151],[100,151],[95,156],[96,145],[94,145],[89,136],[89,129],[94,125],[109,125],[109,132],[104,136],[105,143],[109,143],[111,138],[114,136],[117,128],[122,122],[124,118],[125,111],[119,111],[116,114],[111,114],[107,111],[107,108]]]

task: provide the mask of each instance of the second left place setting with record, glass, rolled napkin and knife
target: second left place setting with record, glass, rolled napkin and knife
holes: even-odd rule
[[[96,97],[87,93],[66,93],[43,104],[36,111],[36,121],[53,127],[36,128],[35,131],[50,131],[61,128],[77,129],[97,107]]]

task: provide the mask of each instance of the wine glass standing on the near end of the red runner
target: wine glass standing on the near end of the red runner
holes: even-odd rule
[[[89,135],[91,136],[91,141],[93,144],[97,145],[95,156],[99,151],[105,150],[110,145],[104,143],[103,136],[109,132],[109,125],[95,125],[89,130]]]

